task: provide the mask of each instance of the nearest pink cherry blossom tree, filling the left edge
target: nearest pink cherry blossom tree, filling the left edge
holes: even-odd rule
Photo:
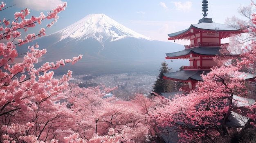
[[[19,55],[16,48],[45,35],[45,30],[57,22],[57,14],[66,6],[64,2],[46,16],[40,13],[39,17],[30,18],[29,9],[24,9],[14,13],[13,21],[6,18],[0,21],[0,142],[51,141],[59,134],[56,129],[64,126],[67,111],[64,106],[55,103],[55,98],[68,87],[67,81],[72,72],[69,71],[61,79],[54,79],[54,72],[49,70],[67,63],[74,64],[82,55],[34,68],[38,58],[46,53],[46,49],[39,50],[36,43],[28,47],[22,62],[13,61]],[[2,2],[0,7],[0,11],[4,10],[5,3]],[[21,38],[22,30],[26,32],[47,19],[52,22],[40,29],[38,34],[31,33]]]

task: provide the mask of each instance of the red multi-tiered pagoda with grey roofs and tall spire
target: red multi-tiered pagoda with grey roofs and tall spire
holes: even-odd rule
[[[166,53],[166,59],[189,59],[189,66],[183,66],[183,70],[177,72],[164,73],[164,79],[184,82],[182,90],[185,92],[196,89],[198,81],[202,81],[201,74],[207,74],[213,66],[217,66],[213,57],[219,54],[221,46],[228,45],[221,40],[243,33],[240,26],[219,24],[207,18],[208,1],[203,0],[202,3],[204,13],[198,24],[191,24],[188,29],[168,34],[168,40],[190,40],[190,45],[186,45],[183,51]]]

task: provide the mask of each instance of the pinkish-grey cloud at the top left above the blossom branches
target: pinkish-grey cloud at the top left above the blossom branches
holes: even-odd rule
[[[61,0],[14,0],[17,7],[25,7],[36,11],[49,11],[63,2]]]

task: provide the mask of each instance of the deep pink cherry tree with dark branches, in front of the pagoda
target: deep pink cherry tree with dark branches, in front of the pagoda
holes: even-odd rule
[[[181,142],[202,137],[214,142],[215,134],[228,134],[225,123],[233,109],[232,96],[245,93],[240,74],[237,66],[213,68],[202,75],[203,82],[199,83],[197,91],[175,97],[168,105],[156,108],[151,118],[159,126],[177,131]]]

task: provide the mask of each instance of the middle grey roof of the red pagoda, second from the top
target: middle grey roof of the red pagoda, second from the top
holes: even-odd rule
[[[220,47],[198,46],[195,48],[187,48],[183,51],[166,53],[166,59],[189,58],[191,53],[194,55],[216,56],[219,54],[219,50]]]

